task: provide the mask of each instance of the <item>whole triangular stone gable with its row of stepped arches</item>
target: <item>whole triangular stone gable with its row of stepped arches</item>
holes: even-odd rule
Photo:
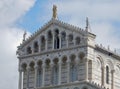
[[[18,47],[18,51],[22,50],[23,54],[32,54],[34,53],[33,51],[37,52],[46,49],[67,48],[68,45],[72,47],[84,44],[86,40],[84,37],[85,34],[86,31],[81,28],[52,19],[26,39]],[[68,41],[70,42],[68,43]]]

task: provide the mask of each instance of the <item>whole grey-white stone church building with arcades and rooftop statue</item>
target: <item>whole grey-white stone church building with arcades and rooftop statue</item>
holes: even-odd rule
[[[24,35],[25,36],[25,35]],[[18,89],[120,89],[120,56],[82,29],[53,17],[18,46]]]

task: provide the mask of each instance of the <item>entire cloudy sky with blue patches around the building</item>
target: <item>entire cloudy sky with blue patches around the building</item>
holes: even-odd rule
[[[52,17],[85,28],[89,17],[96,43],[120,48],[120,0],[0,0],[0,89],[17,89],[17,46],[26,30],[32,34]]]

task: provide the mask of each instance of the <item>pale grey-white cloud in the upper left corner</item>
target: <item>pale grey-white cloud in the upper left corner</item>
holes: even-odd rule
[[[34,5],[35,0],[0,0],[0,26],[11,25]]]

